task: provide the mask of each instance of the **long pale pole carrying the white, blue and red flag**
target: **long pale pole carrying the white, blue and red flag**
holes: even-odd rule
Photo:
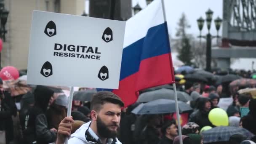
[[[161,0],[161,1],[162,1],[162,9],[163,9],[163,19],[166,22],[166,30],[167,30],[167,34],[168,34],[168,27],[167,27],[166,15],[165,15],[165,3],[164,3],[164,0]],[[171,40],[170,40],[169,35],[168,35],[168,40],[169,40],[169,44],[170,44]],[[174,96],[175,96],[176,116],[177,116],[177,121],[178,121],[179,143],[183,144],[182,133],[181,133],[181,122],[180,122],[180,115],[179,115],[179,104],[178,104],[177,91],[176,91],[176,83],[173,83],[173,90],[174,90]]]

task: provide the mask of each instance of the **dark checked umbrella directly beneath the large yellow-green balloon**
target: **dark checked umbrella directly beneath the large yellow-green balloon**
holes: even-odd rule
[[[254,136],[250,131],[246,130],[245,128],[237,128],[233,126],[218,126],[202,133],[203,143],[207,144],[218,141],[229,141],[230,136],[234,134],[241,134],[249,139]]]

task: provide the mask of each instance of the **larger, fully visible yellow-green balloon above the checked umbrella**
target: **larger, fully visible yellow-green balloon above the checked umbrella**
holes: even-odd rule
[[[229,117],[227,116],[227,112],[225,112],[221,108],[212,109],[209,112],[208,118],[210,122],[215,126],[228,126],[229,125]]]

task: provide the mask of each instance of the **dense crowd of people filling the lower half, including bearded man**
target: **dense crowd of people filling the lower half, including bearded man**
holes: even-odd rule
[[[186,72],[182,74],[187,75]],[[252,78],[252,75],[252,72],[246,72],[241,76]],[[212,123],[209,113],[212,109],[222,108],[219,101],[227,97],[233,99],[227,109],[223,108],[228,125],[246,129],[251,136],[237,132],[228,140],[210,143],[255,144],[256,99],[250,93],[238,93],[242,87],[228,86],[225,89],[226,82],[179,82],[176,81],[177,89],[191,97],[192,100],[186,103],[193,109],[187,112],[187,123],[181,125],[183,144],[206,142],[204,132],[219,126]],[[0,85],[3,85],[2,80]],[[98,92],[91,101],[73,101],[72,117],[66,117],[68,97],[48,86],[37,85],[24,94],[18,109],[9,91],[1,90],[0,144],[64,144],[67,137],[70,144],[179,144],[178,125],[173,113],[136,115],[132,111],[139,102],[123,107],[123,101],[112,92]],[[249,113],[241,117],[240,107],[247,107]]]

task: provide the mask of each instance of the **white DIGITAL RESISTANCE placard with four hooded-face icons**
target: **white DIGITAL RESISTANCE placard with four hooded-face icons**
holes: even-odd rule
[[[125,21],[33,11],[27,83],[119,86]]]

